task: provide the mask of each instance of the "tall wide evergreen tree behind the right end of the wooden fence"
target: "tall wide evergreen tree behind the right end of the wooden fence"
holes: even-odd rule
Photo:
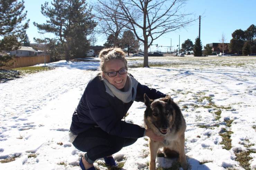
[[[33,23],[41,33],[50,32],[57,37],[60,56],[70,58],[83,57],[89,50],[86,38],[92,33],[96,23],[93,20],[91,7],[85,0],[53,0],[41,6],[41,13],[47,17],[47,23]]]

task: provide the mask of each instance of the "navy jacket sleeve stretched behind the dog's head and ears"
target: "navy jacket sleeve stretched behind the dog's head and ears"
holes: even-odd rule
[[[166,94],[160,91],[157,91],[156,89],[149,88],[145,85],[138,83],[135,101],[144,102],[144,93],[147,94],[149,99],[153,99],[153,100],[158,98],[163,98],[166,96]]]

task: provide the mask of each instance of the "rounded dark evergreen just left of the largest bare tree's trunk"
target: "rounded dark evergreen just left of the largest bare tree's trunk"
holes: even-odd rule
[[[123,37],[120,40],[120,45],[122,49],[127,51],[128,56],[131,51],[137,51],[139,49],[139,41],[130,30],[124,31]]]

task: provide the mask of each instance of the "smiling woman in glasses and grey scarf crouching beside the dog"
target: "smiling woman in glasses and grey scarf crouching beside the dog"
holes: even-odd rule
[[[112,154],[147,136],[163,140],[152,130],[122,121],[134,101],[166,95],[141,85],[127,74],[127,60],[120,48],[103,49],[100,54],[101,74],[90,80],[75,109],[70,127],[70,141],[86,152],[80,159],[82,170],[95,170],[93,162],[104,158],[107,166],[116,166]]]

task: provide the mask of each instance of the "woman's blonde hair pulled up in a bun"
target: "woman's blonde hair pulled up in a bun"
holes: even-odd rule
[[[125,52],[121,48],[113,47],[113,48],[105,48],[100,51],[100,68],[104,72],[105,64],[107,61],[119,59],[125,63],[125,67],[127,67],[127,60],[125,58]]]

